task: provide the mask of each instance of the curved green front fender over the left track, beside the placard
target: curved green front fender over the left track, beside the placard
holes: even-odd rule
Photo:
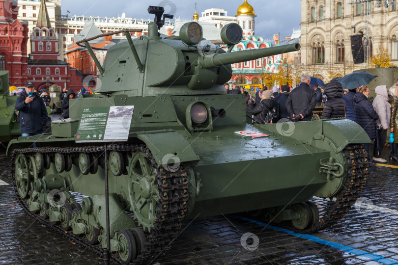
[[[199,162],[199,156],[178,132],[139,133],[137,138],[148,146],[158,165],[190,162],[194,166]]]

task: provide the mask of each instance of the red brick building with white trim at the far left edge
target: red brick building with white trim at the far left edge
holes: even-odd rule
[[[11,85],[25,85],[28,56],[28,25],[17,20],[16,1],[0,0],[0,70],[9,72]]]

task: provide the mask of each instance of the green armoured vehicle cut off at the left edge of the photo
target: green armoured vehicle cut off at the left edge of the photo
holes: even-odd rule
[[[0,142],[9,142],[21,136],[15,103],[18,96],[9,96],[8,71],[0,71]]]

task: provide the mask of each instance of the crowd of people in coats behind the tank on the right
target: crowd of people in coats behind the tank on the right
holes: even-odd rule
[[[255,94],[255,98],[237,84],[225,84],[227,94],[245,94],[246,109],[252,111],[253,119],[258,123],[270,123],[270,117],[290,119],[293,122],[310,121],[313,118],[315,106],[324,103],[321,119],[346,118],[358,123],[374,140],[374,162],[386,163],[381,158],[381,152],[390,135],[390,160],[398,161],[398,79],[389,89],[386,85],[375,88],[376,97],[373,103],[369,101],[369,87],[363,85],[355,89],[344,90],[341,83],[333,79],[324,86],[324,94],[318,85],[310,85],[311,77],[302,75],[300,84],[292,89],[289,85],[282,85],[280,89],[266,86]],[[273,114],[270,114],[273,113]],[[275,122],[275,120],[272,120]],[[369,154],[370,143],[364,144]]]

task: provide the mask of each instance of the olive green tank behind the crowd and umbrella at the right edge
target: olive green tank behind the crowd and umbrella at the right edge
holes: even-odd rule
[[[367,71],[376,78],[371,80],[368,84],[370,95],[369,99],[372,100],[376,97],[374,89],[378,85],[386,85],[388,88],[393,86],[398,80],[398,67],[390,66],[388,68],[367,68],[361,69],[354,72]]]

